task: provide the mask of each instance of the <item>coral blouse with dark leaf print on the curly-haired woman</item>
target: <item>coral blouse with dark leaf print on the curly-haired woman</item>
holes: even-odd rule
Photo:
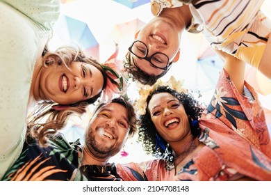
[[[145,171],[150,180],[236,180],[242,176],[271,180],[271,143],[263,108],[246,82],[245,89],[250,98],[240,95],[222,70],[215,94],[199,120],[199,141],[206,146],[176,174],[166,169],[162,159],[125,166]],[[120,176],[132,180],[121,170]]]

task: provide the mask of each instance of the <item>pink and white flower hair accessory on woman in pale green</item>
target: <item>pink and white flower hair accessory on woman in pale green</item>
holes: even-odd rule
[[[113,98],[114,93],[124,95],[128,87],[128,77],[125,76],[126,71],[122,65],[122,61],[117,59],[118,46],[112,56],[102,65],[106,71],[107,86],[104,89],[102,100],[110,100]]]

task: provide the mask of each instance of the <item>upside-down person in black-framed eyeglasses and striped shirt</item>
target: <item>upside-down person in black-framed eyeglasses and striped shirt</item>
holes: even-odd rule
[[[191,33],[202,31],[213,49],[236,56],[271,79],[271,21],[261,13],[262,3],[263,0],[151,0],[151,12],[156,17],[136,34],[124,67],[133,79],[153,85],[178,61],[181,36],[186,29]],[[167,56],[167,65],[154,63],[156,53]]]

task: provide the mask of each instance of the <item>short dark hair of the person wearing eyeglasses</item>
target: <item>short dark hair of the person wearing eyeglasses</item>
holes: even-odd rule
[[[125,70],[131,75],[133,81],[137,80],[141,84],[152,86],[156,83],[156,81],[163,77],[170,68],[165,70],[165,72],[161,73],[160,75],[148,75],[146,72],[142,71],[136,63],[134,65],[131,63],[131,52],[127,52],[124,60],[124,68]]]

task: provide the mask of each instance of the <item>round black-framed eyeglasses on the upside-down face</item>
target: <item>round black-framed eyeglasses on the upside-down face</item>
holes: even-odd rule
[[[140,40],[135,40],[128,50],[138,58],[145,59],[146,61],[151,63],[151,66],[154,68],[158,68],[161,70],[167,70],[168,68],[170,68],[171,63],[169,63],[169,59],[166,54],[156,52],[148,57],[148,47],[144,42]]]

